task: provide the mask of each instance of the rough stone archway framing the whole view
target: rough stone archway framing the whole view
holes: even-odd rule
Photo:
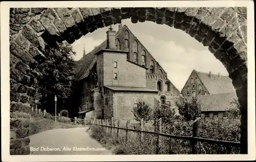
[[[37,65],[48,46],[73,43],[98,28],[153,21],[181,29],[209,47],[226,67],[241,105],[241,153],[247,153],[247,10],[241,8],[12,8],[10,10],[11,111],[33,106]]]

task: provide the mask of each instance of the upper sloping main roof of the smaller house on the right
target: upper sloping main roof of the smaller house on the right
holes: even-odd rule
[[[220,77],[218,74],[211,74],[211,78],[209,77],[209,73],[203,73],[195,71],[202,81],[203,85],[208,90],[209,94],[222,94],[222,93],[229,93],[229,92],[236,92],[232,84],[232,80],[228,76],[221,75]]]

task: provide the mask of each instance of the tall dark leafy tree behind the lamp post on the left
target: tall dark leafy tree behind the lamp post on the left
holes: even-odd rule
[[[57,100],[57,110],[63,108],[63,100],[68,100],[73,92],[74,60],[70,44],[62,42],[55,48],[46,48],[46,61],[38,66],[41,79],[38,81],[38,98],[41,109],[55,112],[54,96]]]

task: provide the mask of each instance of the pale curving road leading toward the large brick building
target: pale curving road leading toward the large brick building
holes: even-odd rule
[[[31,155],[111,155],[85,127],[54,129],[30,136]],[[33,150],[32,150],[33,148]]]

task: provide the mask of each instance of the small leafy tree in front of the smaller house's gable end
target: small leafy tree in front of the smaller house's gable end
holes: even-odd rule
[[[197,101],[197,98],[193,97],[190,101],[182,98],[176,102],[179,113],[183,115],[186,121],[196,120],[201,115],[201,104]]]

